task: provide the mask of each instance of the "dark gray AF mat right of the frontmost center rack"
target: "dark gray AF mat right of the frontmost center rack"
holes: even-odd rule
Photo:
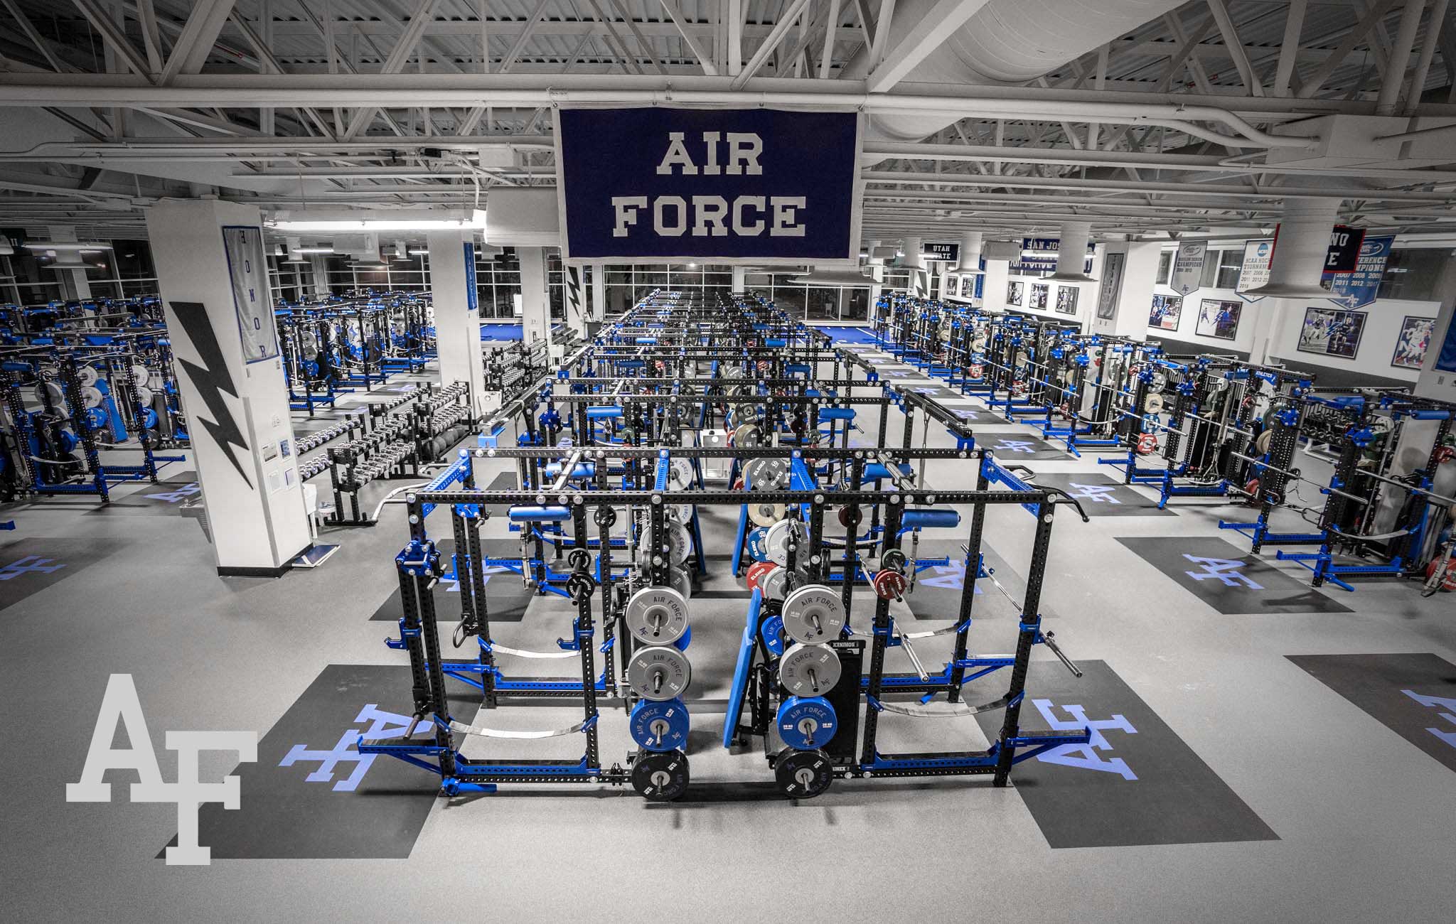
[[[1054,661],[1026,675],[1022,732],[1092,726],[1092,741],[1016,764],[1012,781],[1047,844],[1131,847],[1278,835],[1102,661],[1079,680]],[[990,684],[1006,678],[992,675]],[[967,697],[974,701],[974,697]],[[977,716],[989,739],[1003,713]]]

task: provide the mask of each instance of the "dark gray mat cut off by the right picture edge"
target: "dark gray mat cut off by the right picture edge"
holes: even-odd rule
[[[1287,655],[1380,725],[1456,770],[1456,665],[1439,655]]]

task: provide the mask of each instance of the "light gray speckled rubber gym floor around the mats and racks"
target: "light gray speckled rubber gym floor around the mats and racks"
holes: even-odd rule
[[[893,413],[898,444],[901,418]],[[862,415],[860,425],[859,438],[869,439],[874,416]],[[949,444],[938,428],[929,439]],[[1026,466],[1111,473],[1091,458]],[[974,486],[965,463],[932,463],[925,474],[936,486]],[[630,789],[517,787],[435,800],[405,860],[169,867],[157,853],[176,832],[175,808],[127,803],[127,773],[109,777],[112,805],[64,799],[66,783],[80,776],[108,675],[134,677],[163,777],[172,780],[175,755],[162,746],[167,729],[262,736],[329,665],[403,665],[403,652],[381,643],[395,627],[370,621],[397,588],[403,514],[390,506],[374,528],[329,533],[342,549],[323,567],[262,581],[217,578],[195,518],[93,509],[70,499],[4,512],[17,528],[0,537],[45,538],[51,550],[76,543],[89,556],[83,569],[51,575],[0,608],[0,693],[9,704],[0,882],[9,920],[1284,923],[1444,921],[1456,907],[1456,777],[1287,659],[1418,652],[1456,662],[1456,595],[1423,601],[1411,585],[1372,582],[1356,594],[1315,591],[1348,613],[1223,614],[1117,541],[1217,537],[1246,549],[1217,528],[1220,517],[1242,511],[1203,501],[1175,508],[1176,517],[1088,524],[1059,509],[1042,613],[1072,658],[1115,671],[1277,840],[1053,848],[1025,793],[976,777],[839,783],[820,799],[785,802],[766,787],[772,776],[761,752],[713,745],[722,709],[715,703],[727,696],[744,610],[741,600],[715,598],[693,605],[693,780],[748,783],[738,789],[743,797],[649,805]],[[735,514],[705,514],[709,554],[728,553]],[[444,535],[446,525],[434,533]],[[504,521],[486,531],[507,535]],[[1031,538],[1025,511],[992,509],[986,541],[1022,575]],[[1265,563],[1306,584],[1302,569],[1273,553]],[[711,565],[708,589],[740,586],[721,559]],[[539,598],[523,623],[499,626],[496,637],[545,648],[565,634],[568,620],[559,601]],[[913,629],[939,624],[922,618]],[[1006,624],[989,617],[984,637],[980,624],[973,630],[973,648],[1009,650]],[[922,655],[943,661],[935,643],[925,642]],[[1037,658],[1050,653],[1038,648]],[[901,653],[891,655],[893,669],[907,666]],[[408,703],[400,688],[380,706]],[[572,719],[569,709],[523,706],[482,712],[482,720],[550,728]],[[974,720],[941,722],[948,725],[887,719],[882,749],[986,746]],[[1440,722],[1436,710],[1431,722]],[[622,761],[629,739],[620,710],[603,716],[601,736],[603,761]],[[579,754],[578,741],[470,748],[568,757],[572,748]],[[233,764],[207,754],[202,778]]]

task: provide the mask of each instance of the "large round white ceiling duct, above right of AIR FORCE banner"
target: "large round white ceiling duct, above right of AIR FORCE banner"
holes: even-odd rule
[[[939,0],[900,0],[890,23],[894,49]],[[1182,0],[990,0],[906,76],[909,83],[1024,84],[1118,35],[1182,6]],[[844,77],[863,79],[872,61],[862,49]],[[877,113],[871,137],[919,141],[951,122],[933,113]]]

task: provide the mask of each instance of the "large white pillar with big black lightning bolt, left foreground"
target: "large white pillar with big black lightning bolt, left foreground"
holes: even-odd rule
[[[310,540],[261,215],[163,199],[147,236],[217,573],[278,576]]]

